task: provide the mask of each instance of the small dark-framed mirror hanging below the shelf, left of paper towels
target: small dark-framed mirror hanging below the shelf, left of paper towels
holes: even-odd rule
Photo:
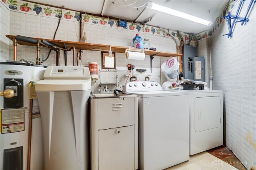
[[[116,53],[108,57],[108,52],[101,52],[101,68],[116,69]]]

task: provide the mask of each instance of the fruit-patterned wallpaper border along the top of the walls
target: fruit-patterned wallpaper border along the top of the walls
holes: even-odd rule
[[[212,28],[210,30],[206,30],[199,34],[193,35],[190,45],[196,46],[197,41],[203,40],[205,38],[212,36],[212,34],[214,34],[214,32],[218,29],[220,24],[222,24],[222,22],[224,21],[222,16],[225,16],[232,8],[234,8],[234,6],[238,3],[238,1],[239,0],[230,0],[229,3],[226,5],[225,9],[223,10],[222,14],[220,14],[220,16],[215,20]],[[9,10],[12,10],[15,12],[22,12],[22,13],[27,13],[27,14],[32,14],[32,15],[37,15],[42,17],[51,17],[51,18],[61,17],[61,19],[64,19],[64,20],[70,20],[72,22],[80,22],[80,12],[76,12],[72,10],[34,4],[34,3],[26,2],[23,0],[1,0],[1,3],[4,4],[4,6],[6,6],[6,8],[8,8]],[[178,39],[177,31],[170,30],[170,29],[141,25],[133,22],[127,22],[126,27],[120,27],[118,26],[118,20],[112,20],[109,18],[92,16],[87,14],[82,14],[81,20],[86,24],[96,24],[99,26],[107,26],[111,28],[124,29],[124,30],[133,31],[137,33],[144,32],[147,34],[165,36],[166,38],[173,38],[175,39],[176,42],[180,42],[180,40]],[[184,40],[184,44],[188,44],[190,34],[185,32],[179,32],[179,33]]]

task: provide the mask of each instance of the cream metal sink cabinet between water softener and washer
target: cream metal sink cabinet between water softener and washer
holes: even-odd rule
[[[138,97],[90,100],[92,170],[138,169]]]

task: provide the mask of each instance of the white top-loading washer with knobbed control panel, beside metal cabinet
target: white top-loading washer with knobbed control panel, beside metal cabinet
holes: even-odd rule
[[[188,92],[163,91],[157,82],[129,82],[138,95],[139,169],[162,170],[189,160]]]

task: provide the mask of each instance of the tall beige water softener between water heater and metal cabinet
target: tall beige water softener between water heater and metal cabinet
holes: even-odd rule
[[[36,82],[42,116],[44,169],[88,169],[88,67],[48,66]]]

